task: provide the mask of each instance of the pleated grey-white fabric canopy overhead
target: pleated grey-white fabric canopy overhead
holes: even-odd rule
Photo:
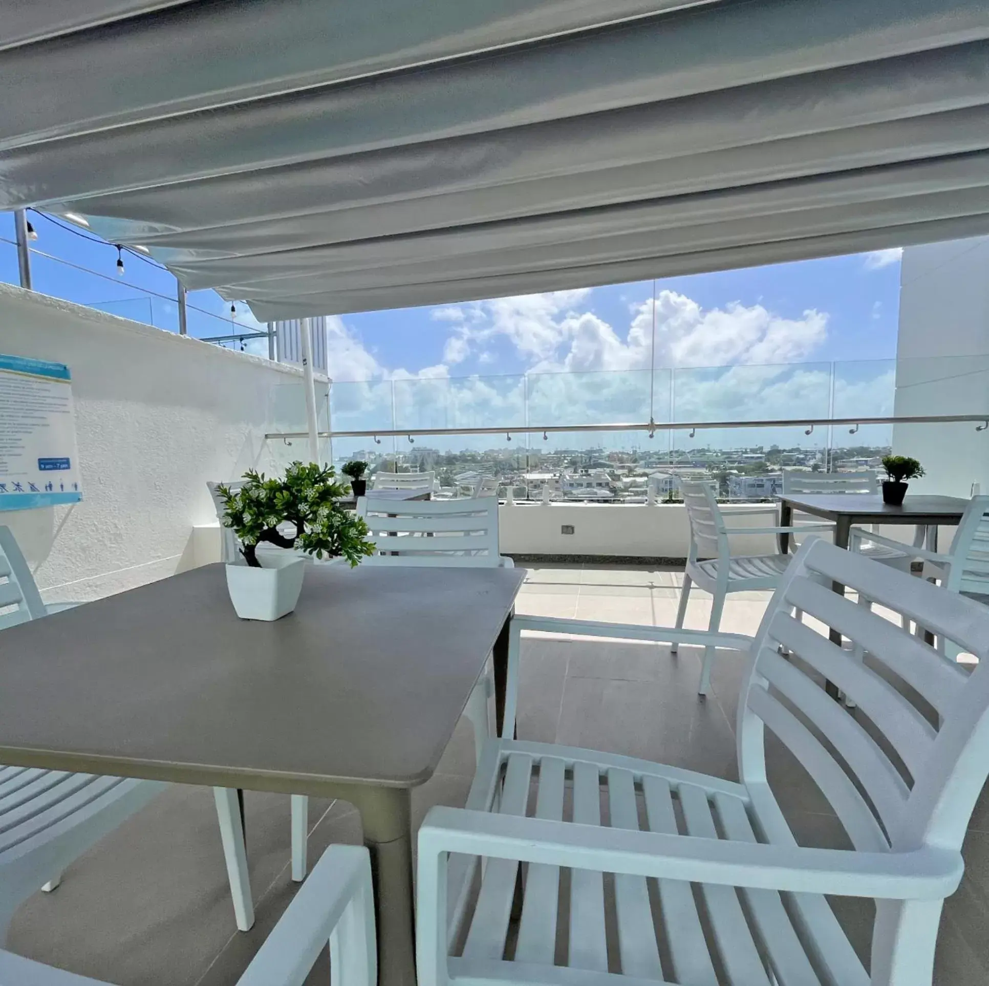
[[[14,6],[0,208],[262,320],[989,232],[984,0]]]

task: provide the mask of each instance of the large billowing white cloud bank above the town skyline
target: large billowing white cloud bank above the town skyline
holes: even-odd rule
[[[396,420],[409,428],[518,426],[526,400],[529,422],[537,425],[648,420],[651,408],[662,420],[671,393],[678,420],[827,416],[829,370],[784,365],[812,358],[827,338],[825,313],[787,318],[739,302],[704,308],[685,295],[660,292],[651,401],[652,299],[629,304],[624,325],[596,314],[591,301],[591,292],[582,290],[435,309],[430,316],[451,329],[442,362],[415,372],[382,365],[340,318],[327,319],[331,375],[368,381],[338,391],[336,426],[343,428],[346,419],[353,428],[391,427],[393,391]],[[524,382],[521,376],[450,376],[451,367],[473,353],[479,364],[492,362],[495,339],[510,343],[527,373]],[[842,397],[860,403],[851,391]]]

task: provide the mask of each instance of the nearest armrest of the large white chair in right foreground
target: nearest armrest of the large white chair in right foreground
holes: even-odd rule
[[[440,853],[549,863],[735,887],[939,900],[953,893],[960,852],[854,852],[765,846],[727,839],[636,832],[464,808],[430,810],[419,829],[419,865]]]

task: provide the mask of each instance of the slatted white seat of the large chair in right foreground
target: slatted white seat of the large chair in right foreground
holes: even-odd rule
[[[499,756],[492,758],[494,744]],[[487,776],[479,772],[472,801],[494,789],[497,771],[507,762],[501,796],[494,801],[502,813],[743,842],[764,842],[757,833],[779,831],[778,823],[760,823],[745,787],[705,774],[536,743],[494,741],[485,755],[481,770],[487,769]],[[761,796],[772,797],[767,789]],[[461,925],[462,954],[449,960],[452,977],[541,979],[531,966],[524,975],[513,975],[511,964],[553,966],[560,942],[568,941],[562,950],[575,986],[578,970],[620,969],[623,977],[692,984],[720,982],[719,967],[728,973],[726,982],[766,983],[766,959],[781,983],[818,983],[827,981],[818,974],[822,954],[832,969],[841,969],[843,983],[868,982],[824,897],[800,895],[798,932],[793,901],[785,899],[791,895],[661,879],[653,888],[660,904],[654,909],[651,879],[610,877],[612,896],[601,873],[573,869],[570,899],[561,906],[568,883],[561,883],[559,867],[545,864],[528,864],[523,871],[518,936],[514,951],[508,949],[509,962],[504,954],[517,869],[512,860],[488,860],[474,909]],[[617,933],[617,948],[612,943],[610,952],[605,927]],[[569,981],[563,969],[553,971],[553,982]]]

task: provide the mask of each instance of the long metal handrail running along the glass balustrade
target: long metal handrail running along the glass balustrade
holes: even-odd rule
[[[549,434],[568,431],[683,431],[687,428],[785,428],[815,427],[835,424],[927,424],[980,421],[976,431],[989,427],[987,414],[894,414],[887,417],[791,417],[759,421],[643,421],[620,424],[549,424],[509,425],[500,428],[365,428],[359,431],[320,431],[320,438],[387,438],[393,435],[411,438],[427,435],[506,435]],[[307,431],[269,431],[265,438],[306,438]]]

